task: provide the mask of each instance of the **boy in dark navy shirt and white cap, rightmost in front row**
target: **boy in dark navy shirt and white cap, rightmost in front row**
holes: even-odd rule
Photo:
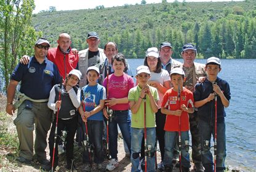
[[[207,78],[197,83],[194,91],[194,107],[198,108],[201,157],[204,171],[224,171],[226,157],[225,110],[230,105],[230,86],[221,78],[220,59],[206,62]],[[210,152],[211,135],[214,136],[214,161]]]

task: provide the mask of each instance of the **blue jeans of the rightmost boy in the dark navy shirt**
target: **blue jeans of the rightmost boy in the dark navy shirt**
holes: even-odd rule
[[[214,171],[214,161],[210,152],[210,138],[214,138],[214,126],[208,122],[199,121],[199,133],[201,135],[201,156],[202,165],[206,168],[206,172]],[[206,145],[209,141],[209,145]],[[226,125],[225,122],[217,123],[217,162],[216,170],[224,171],[226,158]]]

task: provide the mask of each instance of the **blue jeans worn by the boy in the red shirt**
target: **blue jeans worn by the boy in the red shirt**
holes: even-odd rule
[[[167,132],[164,135],[165,152],[164,152],[164,166],[172,166],[172,158],[174,157],[175,143],[178,137],[178,132]],[[190,137],[187,132],[181,132],[182,140],[182,166],[190,168],[190,153],[186,151],[185,140],[189,142]]]

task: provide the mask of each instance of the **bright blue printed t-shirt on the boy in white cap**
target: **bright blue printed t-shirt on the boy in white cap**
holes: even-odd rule
[[[106,99],[106,89],[100,84],[96,84],[95,86],[86,85],[82,88],[82,92],[84,94],[83,101],[86,111],[94,110],[100,104],[100,100]],[[102,110],[90,116],[88,120],[103,121]]]

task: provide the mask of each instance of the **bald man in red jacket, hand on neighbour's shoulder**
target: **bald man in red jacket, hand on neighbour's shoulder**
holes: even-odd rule
[[[60,76],[65,79],[66,75],[72,69],[78,69],[78,54],[74,54],[71,50],[71,37],[69,34],[62,33],[58,36],[58,47],[48,50],[47,59],[54,62],[58,67]],[[29,56],[23,56],[20,62],[28,64]]]

